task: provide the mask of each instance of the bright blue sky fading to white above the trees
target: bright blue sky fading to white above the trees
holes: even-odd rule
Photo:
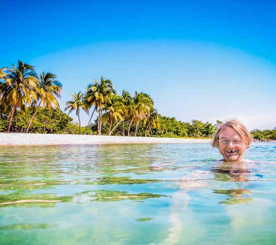
[[[0,66],[20,59],[57,74],[62,109],[102,75],[118,93],[149,93],[160,113],[181,121],[276,126],[272,1],[3,1],[1,8]]]

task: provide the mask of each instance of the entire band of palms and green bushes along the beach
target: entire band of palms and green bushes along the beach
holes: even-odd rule
[[[94,79],[85,92],[73,93],[72,99],[66,102],[65,112],[69,115],[74,111],[78,117],[79,123],[75,123],[60,110],[61,92],[62,83],[51,72],[38,75],[34,66],[22,61],[0,68],[0,131],[210,137],[221,123],[181,122],[162,116],[150,95],[135,92],[131,96],[125,90],[119,95],[111,80],[104,77]],[[81,110],[90,115],[85,127],[81,125]],[[95,113],[97,116],[92,122]],[[259,131],[253,135],[268,137],[267,134],[260,136]]]

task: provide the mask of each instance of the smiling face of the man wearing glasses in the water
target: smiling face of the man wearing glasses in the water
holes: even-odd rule
[[[242,161],[247,146],[232,127],[223,126],[219,131],[218,138],[218,149],[223,156],[223,161]],[[225,143],[227,140],[228,144]]]

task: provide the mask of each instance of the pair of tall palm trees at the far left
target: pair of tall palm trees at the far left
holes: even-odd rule
[[[0,113],[8,115],[6,132],[10,132],[16,111],[35,108],[25,132],[28,132],[38,109],[59,108],[62,84],[51,72],[38,75],[34,66],[18,61],[17,66],[0,68]]]

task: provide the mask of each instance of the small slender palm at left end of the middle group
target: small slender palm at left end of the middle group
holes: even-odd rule
[[[66,102],[64,111],[69,110],[69,112],[68,112],[68,115],[69,115],[72,111],[76,110],[76,115],[79,118],[79,134],[81,134],[80,111],[81,111],[81,109],[83,109],[87,114],[89,113],[89,111],[87,108],[87,104],[85,102],[84,93],[82,93],[81,91],[78,92],[77,94],[73,93],[72,98],[73,98],[73,100]]]

